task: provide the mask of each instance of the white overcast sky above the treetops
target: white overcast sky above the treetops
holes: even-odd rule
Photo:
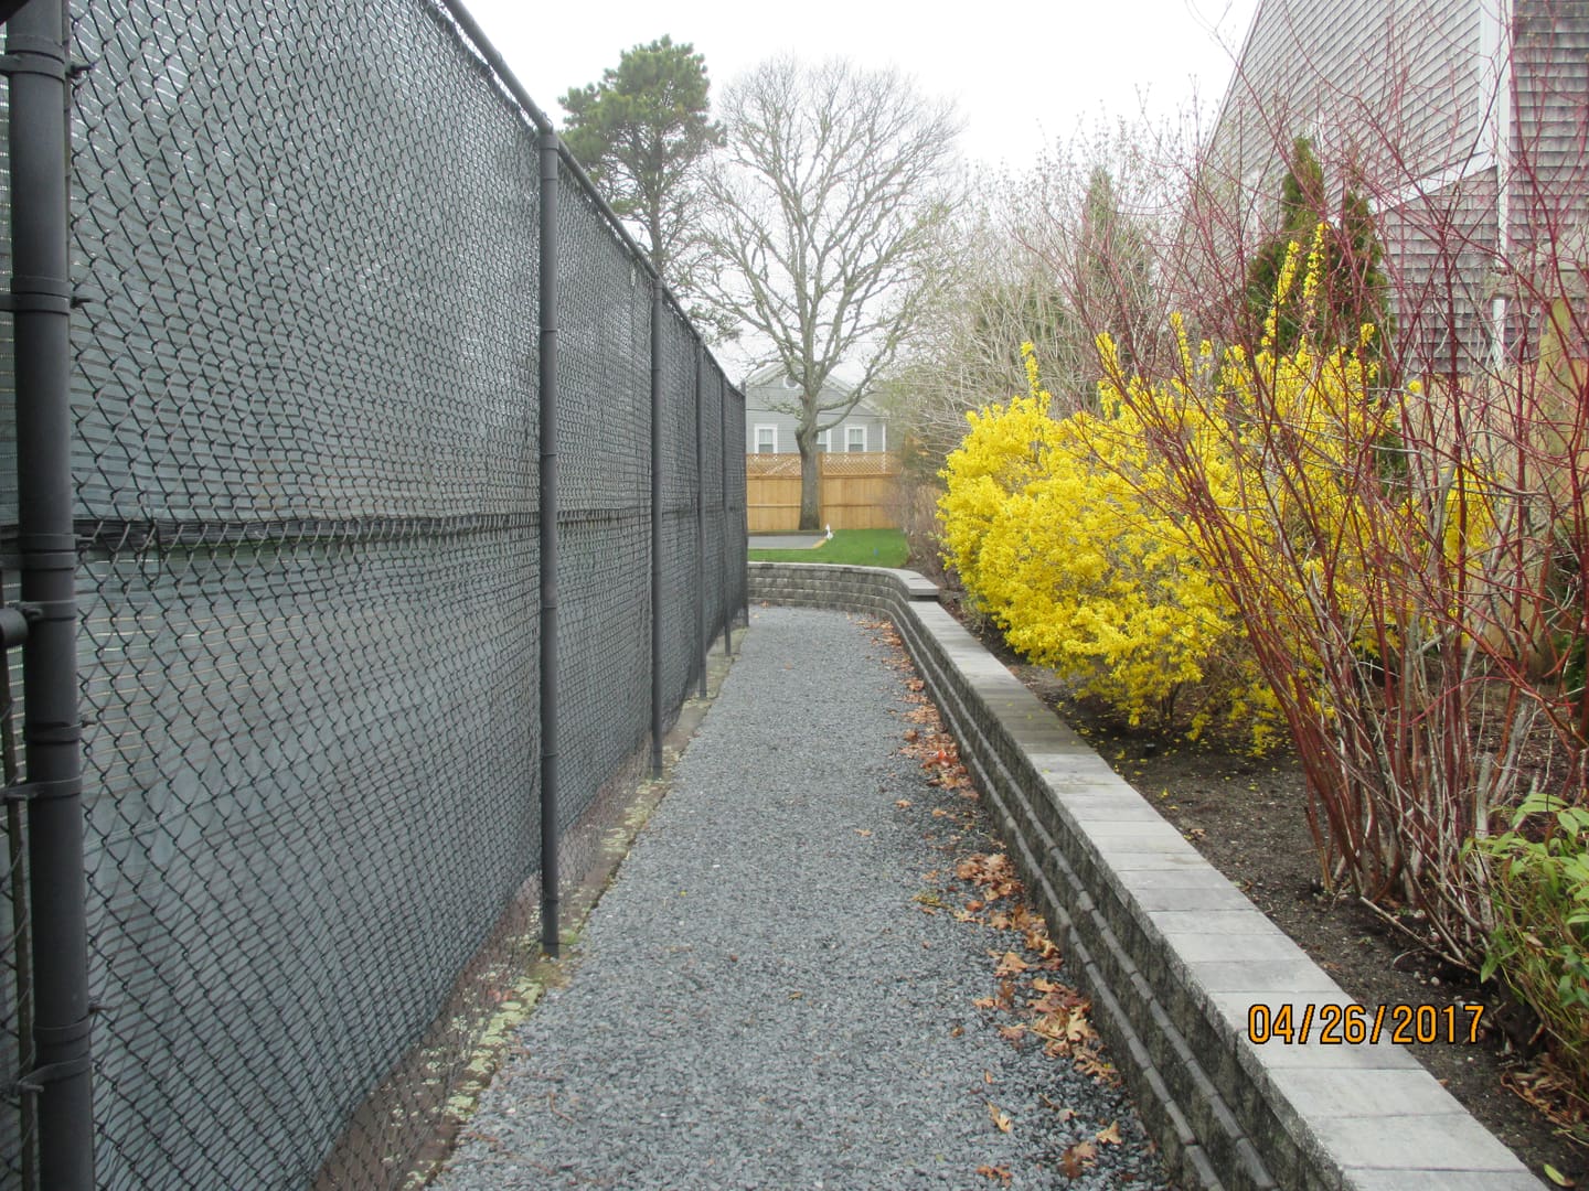
[[[1320,0],[1327,3],[1328,0]],[[1255,0],[1028,0],[926,6],[868,0],[466,0],[520,83],[555,121],[558,97],[596,83],[621,51],[664,33],[706,56],[713,92],[780,52],[898,67],[953,97],[968,159],[1023,168],[1049,143],[1144,108],[1174,116],[1225,91]]]

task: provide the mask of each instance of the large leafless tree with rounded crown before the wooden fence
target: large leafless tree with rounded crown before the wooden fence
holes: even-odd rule
[[[960,124],[895,71],[788,57],[729,84],[721,124],[707,300],[796,384],[799,524],[815,529],[817,435],[868,395],[920,311],[917,283],[955,206]],[[825,394],[841,364],[853,387]]]

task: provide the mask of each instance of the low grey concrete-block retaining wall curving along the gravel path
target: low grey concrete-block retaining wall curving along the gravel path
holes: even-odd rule
[[[1300,1023],[1352,999],[941,608],[930,580],[752,562],[750,599],[893,621],[1173,1178],[1230,1191],[1543,1186],[1403,1046],[1255,1045],[1255,1004],[1289,1004]]]

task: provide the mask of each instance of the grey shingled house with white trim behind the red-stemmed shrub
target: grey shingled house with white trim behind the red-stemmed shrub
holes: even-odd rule
[[[1527,357],[1589,264],[1586,56],[1584,0],[1260,0],[1208,167],[1251,235],[1309,138],[1336,197],[1359,175],[1409,359]]]

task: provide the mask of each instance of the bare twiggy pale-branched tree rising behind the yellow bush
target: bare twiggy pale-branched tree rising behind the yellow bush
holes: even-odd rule
[[[903,526],[923,565],[939,554],[944,457],[969,410],[1026,392],[1025,345],[1055,416],[1096,407],[1100,332],[1138,367],[1162,349],[1158,251],[1181,194],[1160,157],[1179,165],[1184,151],[1147,119],[1082,130],[1028,168],[982,175],[941,229],[922,318],[882,386],[901,430]]]

